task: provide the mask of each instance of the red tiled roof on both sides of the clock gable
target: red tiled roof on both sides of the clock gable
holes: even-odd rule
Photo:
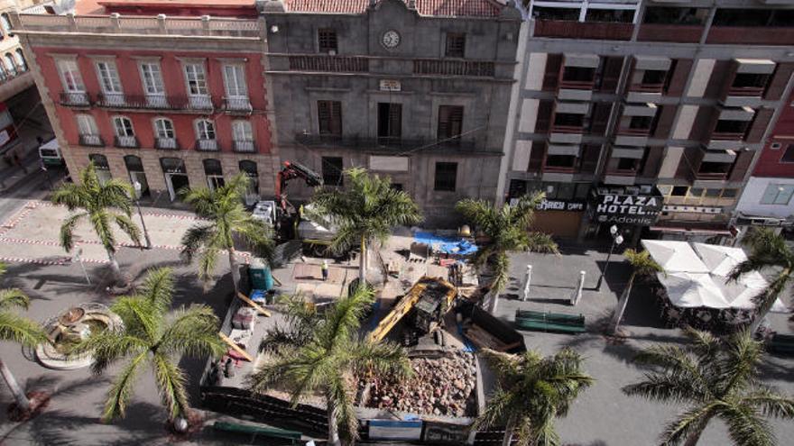
[[[407,0],[405,0],[407,1]],[[370,0],[284,0],[287,11],[300,13],[363,14]],[[422,15],[495,17],[502,10],[495,0],[416,0]]]

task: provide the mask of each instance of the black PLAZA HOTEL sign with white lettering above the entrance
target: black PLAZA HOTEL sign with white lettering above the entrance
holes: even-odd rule
[[[592,204],[595,221],[598,223],[622,223],[650,226],[659,219],[664,205],[656,187],[642,187],[632,191],[596,188]]]

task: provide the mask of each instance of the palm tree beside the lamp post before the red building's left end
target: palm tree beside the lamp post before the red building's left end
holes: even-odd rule
[[[65,183],[52,194],[52,203],[66,205],[70,213],[60,225],[60,246],[67,252],[74,248],[74,229],[83,218],[88,219],[99,241],[105,247],[107,259],[113,269],[114,278],[121,277],[118,261],[115,259],[115,234],[113,224],[125,232],[136,244],[141,244],[141,230],[133,223],[134,191],[125,182],[118,179],[99,181],[94,163],[79,173],[78,184]]]

